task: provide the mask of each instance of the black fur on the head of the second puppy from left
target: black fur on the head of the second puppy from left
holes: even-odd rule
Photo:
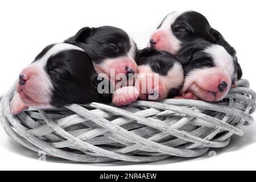
[[[125,31],[111,26],[84,27],[65,42],[84,49],[96,64],[108,58],[127,55],[134,43],[130,42]]]

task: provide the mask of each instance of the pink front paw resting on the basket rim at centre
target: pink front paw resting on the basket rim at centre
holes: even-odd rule
[[[125,86],[115,90],[112,102],[117,106],[125,106],[136,101],[138,97],[139,92],[134,86]]]

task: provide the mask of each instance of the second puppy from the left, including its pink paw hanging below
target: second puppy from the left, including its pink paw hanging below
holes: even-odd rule
[[[138,48],[125,31],[112,26],[84,27],[65,42],[84,49],[92,58],[96,72],[115,85],[114,104],[127,105],[137,99],[127,96],[126,90],[133,90],[133,83],[129,87],[129,78],[137,73],[134,59]]]

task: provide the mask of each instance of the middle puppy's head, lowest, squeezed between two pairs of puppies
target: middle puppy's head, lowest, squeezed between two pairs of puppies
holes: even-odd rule
[[[162,100],[179,93],[184,73],[182,65],[171,53],[145,48],[138,51],[135,60],[141,100]]]

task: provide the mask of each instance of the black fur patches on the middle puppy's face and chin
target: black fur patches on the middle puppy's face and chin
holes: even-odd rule
[[[168,72],[174,67],[175,63],[180,61],[167,51],[158,51],[154,48],[144,48],[137,52],[135,57],[136,63],[139,65],[148,65],[155,73],[161,76],[167,76]],[[183,84],[180,84],[179,88],[172,88],[168,92],[167,98],[173,98],[179,94]]]

